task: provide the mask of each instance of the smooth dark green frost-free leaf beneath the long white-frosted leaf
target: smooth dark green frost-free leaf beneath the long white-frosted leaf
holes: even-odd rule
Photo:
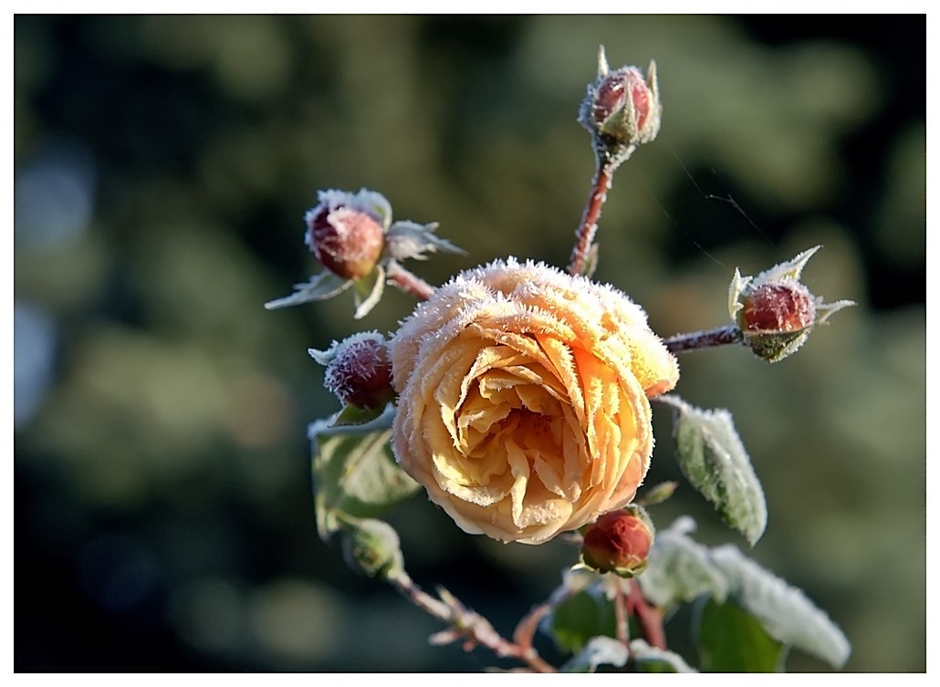
[[[783,672],[787,648],[734,603],[705,601],[694,622],[700,666],[707,673]]]

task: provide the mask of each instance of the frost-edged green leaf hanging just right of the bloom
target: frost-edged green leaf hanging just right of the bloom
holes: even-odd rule
[[[676,396],[673,435],[682,474],[753,546],[767,525],[767,505],[750,458],[725,410],[704,411]]]

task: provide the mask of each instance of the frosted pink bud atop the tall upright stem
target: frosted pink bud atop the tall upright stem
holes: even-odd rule
[[[597,79],[587,86],[578,117],[594,147],[619,164],[637,145],[656,137],[662,113],[656,63],[650,60],[646,78],[637,67],[610,71],[602,46]]]

